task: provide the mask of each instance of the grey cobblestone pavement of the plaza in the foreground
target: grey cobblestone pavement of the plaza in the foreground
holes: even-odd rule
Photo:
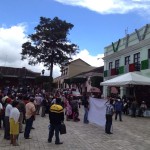
[[[11,146],[0,130],[0,150],[150,150],[150,118],[123,116],[123,122],[113,121],[111,135],[105,134],[101,126],[83,124],[83,108],[80,119],[80,122],[65,122],[67,134],[60,135],[62,145],[55,145],[55,137],[52,143],[47,142],[48,115],[36,117],[32,139],[24,139],[23,133],[19,135],[20,146]]]

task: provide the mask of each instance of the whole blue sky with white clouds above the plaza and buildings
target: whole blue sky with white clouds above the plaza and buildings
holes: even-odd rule
[[[74,57],[92,66],[103,65],[104,47],[149,23],[150,0],[1,0],[0,65],[24,67],[40,72],[20,61],[21,45],[34,32],[41,16],[59,17],[74,25],[68,36],[80,48]],[[54,68],[54,77],[60,75]]]

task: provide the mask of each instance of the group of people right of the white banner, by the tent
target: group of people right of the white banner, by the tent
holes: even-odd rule
[[[130,115],[131,117],[144,117],[144,112],[147,109],[145,101],[138,104],[135,98],[127,98],[123,96],[121,99],[118,96],[108,96],[108,101],[106,102],[106,124],[105,133],[113,134],[112,129],[112,118],[115,115],[115,120],[119,116],[119,120],[122,120],[122,114]]]

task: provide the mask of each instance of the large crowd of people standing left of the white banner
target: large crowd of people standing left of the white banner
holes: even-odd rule
[[[84,94],[82,102],[85,106],[84,123],[88,123],[88,96]],[[23,88],[5,87],[0,90],[0,128],[4,130],[4,139],[17,146],[19,134],[31,139],[30,132],[36,115],[49,115],[50,128],[48,142],[52,141],[55,131],[55,144],[62,144],[59,139],[61,123],[78,122],[81,100],[63,91],[53,94],[44,90],[23,90]],[[25,127],[23,128],[23,124]]]

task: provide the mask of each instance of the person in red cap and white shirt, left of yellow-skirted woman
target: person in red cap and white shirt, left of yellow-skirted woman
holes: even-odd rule
[[[10,139],[10,124],[9,124],[9,117],[10,112],[12,109],[12,99],[7,98],[6,99],[6,108],[5,108],[5,128],[4,128],[4,139],[9,140]]]

